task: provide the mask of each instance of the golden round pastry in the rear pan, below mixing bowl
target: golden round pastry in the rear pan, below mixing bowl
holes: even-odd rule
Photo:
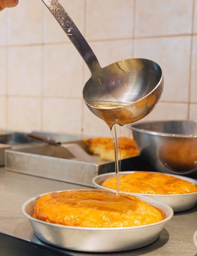
[[[102,182],[103,187],[116,189],[116,177]],[[179,195],[197,192],[197,186],[171,175],[134,172],[119,176],[120,191],[152,195]]]

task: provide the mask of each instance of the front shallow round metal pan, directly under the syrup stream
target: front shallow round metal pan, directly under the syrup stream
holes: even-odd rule
[[[173,216],[173,210],[158,200],[137,196],[164,212],[166,218],[160,222],[138,227],[125,228],[83,228],[52,224],[32,218],[37,197],[26,201],[21,207],[36,236],[43,242],[61,248],[87,252],[115,252],[140,248],[155,242],[166,222]],[[135,195],[136,196],[136,195]]]

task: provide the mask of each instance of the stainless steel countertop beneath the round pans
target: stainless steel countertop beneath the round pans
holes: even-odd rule
[[[51,246],[42,243],[35,237],[29,221],[21,214],[21,205],[29,198],[42,193],[77,188],[86,187],[13,173],[0,168],[0,233],[50,248]],[[192,239],[195,230],[197,230],[197,206],[191,210],[174,214],[155,243],[137,250],[116,254],[197,256],[197,248],[195,248]],[[58,255],[111,255],[111,253],[80,253],[58,248],[56,250],[59,252]]]

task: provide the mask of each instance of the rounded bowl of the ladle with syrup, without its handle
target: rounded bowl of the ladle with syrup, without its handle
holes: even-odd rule
[[[146,116],[163,90],[163,74],[154,61],[126,59],[100,68],[83,88],[87,107],[110,127]]]

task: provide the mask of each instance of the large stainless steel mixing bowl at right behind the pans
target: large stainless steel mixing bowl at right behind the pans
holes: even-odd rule
[[[153,170],[197,178],[197,121],[141,122],[127,127]]]

